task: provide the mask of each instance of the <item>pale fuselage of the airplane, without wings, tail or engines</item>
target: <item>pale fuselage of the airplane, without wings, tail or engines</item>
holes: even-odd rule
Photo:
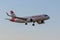
[[[18,23],[31,22],[30,19],[32,19],[33,22],[36,22],[36,21],[41,21],[41,20],[47,20],[47,19],[49,19],[49,16],[48,15],[37,15],[37,16],[31,16],[31,17],[25,17],[25,18],[27,18],[27,20],[22,20],[22,19],[16,18],[15,22],[18,22]]]

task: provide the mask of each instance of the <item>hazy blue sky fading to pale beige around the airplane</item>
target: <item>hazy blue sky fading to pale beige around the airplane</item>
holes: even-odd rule
[[[45,24],[13,23],[6,12],[17,16],[47,14]],[[60,40],[60,0],[0,0],[0,40]]]

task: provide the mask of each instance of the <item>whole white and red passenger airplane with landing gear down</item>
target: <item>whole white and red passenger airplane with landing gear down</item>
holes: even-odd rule
[[[9,15],[7,12],[6,14],[11,17],[11,19],[6,18],[7,20],[11,22],[17,22],[17,23],[25,23],[27,25],[28,23],[33,23],[32,26],[35,26],[35,22],[38,24],[43,24],[45,23],[45,20],[48,20],[50,17],[46,14],[42,15],[35,15],[35,16],[28,16],[28,17],[17,17],[15,13],[11,10]]]

